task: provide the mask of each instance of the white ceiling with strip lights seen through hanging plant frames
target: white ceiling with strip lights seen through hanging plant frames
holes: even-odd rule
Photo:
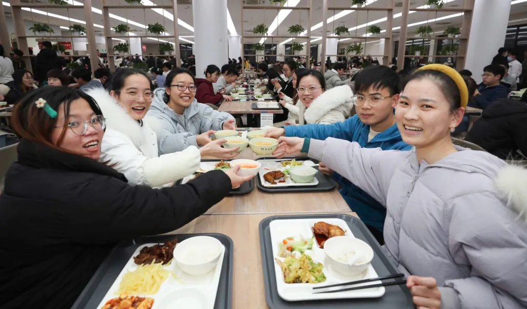
[[[30,0],[22,0],[23,2],[30,2]],[[72,1],[72,0],[69,0]],[[171,0],[150,0],[155,5],[170,5]],[[255,2],[258,0],[247,0]],[[307,6],[308,0],[290,0],[294,2],[298,2],[297,6]],[[370,4],[367,7],[386,7],[389,3],[389,0],[369,0]],[[495,1],[495,0],[493,0]],[[9,3],[10,0],[4,0],[3,2]],[[31,0],[31,2],[35,2],[35,0]],[[38,0],[38,2],[47,3],[47,0]],[[81,1],[82,2],[82,1]],[[269,5],[268,0],[260,0],[261,3],[264,3],[265,5]],[[401,0],[395,0],[396,7],[394,9],[394,14],[396,14],[395,18],[393,19],[393,27],[399,27],[401,26],[401,17],[397,17],[398,13],[401,13]],[[411,1],[411,8],[416,8],[423,6],[426,0],[412,0]],[[460,8],[463,6],[463,0],[447,0],[447,4],[445,7],[448,8]],[[123,0],[109,0],[109,3],[111,5],[124,5],[125,2]],[[241,3],[242,0],[227,0],[228,3],[228,10],[230,12],[230,16],[232,18],[232,22],[234,24],[234,27],[236,29],[236,32],[238,35],[241,34]],[[322,22],[322,0],[313,0],[313,12],[312,12],[312,22],[311,26],[317,25]],[[348,7],[350,6],[349,0],[328,0],[328,7]],[[92,7],[95,9],[101,9],[102,4],[101,0],[92,0]],[[7,13],[7,15],[11,12],[11,7],[4,6],[4,9]],[[41,8],[40,11],[42,12],[48,12],[53,13],[61,16],[69,16],[70,18],[84,20],[84,12],[83,8],[80,7],[79,9],[69,9],[66,11],[64,8]],[[158,12],[161,10],[158,9]],[[168,12],[171,11],[171,9],[167,9]],[[277,30],[275,30],[272,33],[269,33],[269,35],[281,35],[281,36],[288,36],[287,29],[289,26],[294,24],[301,24],[304,26],[304,28],[308,28],[308,15],[307,11],[304,10],[289,10],[289,15],[283,20],[283,22],[280,23]],[[271,26],[273,21],[275,20],[277,16],[278,8],[272,9],[272,10],[244,10],[243,11],[243,34],[244,35],[252,35],[252,28],[255,27],[258,24],[265,23],[268,27]],[[341,11],[328,11],[327,12],[327,18],[330,18],[334,14],[338,14]],[[110,9],[110,13],[114,14],[116,16],[120,16],[122,18],[126,18],[130,20],[130,23],[139,23],[142,25],[147,24],[153,24],[153,23],[161,23],[164,25],[165,28],[167,28],[167,32],[169,34],[173,34],[173,22],[168,17],[163,17],[162,15],[158,14],[157,12],[154,12],[152,9],[142,9],[140,6],[130,6],[130,8],[127,9]],[[36,14],[36,13],[30,13],[30,12],[23,12],[24,18],[27,20],[34,20],[35,22],[40,23],[48,23],[53,24],[57,26],[63,26],[67,27],[69,25],[75,24],[76,22],[71,22],[69,20],[64,20],[60,18],[55,17],[48,17],[42,14]],[[353,36],[363,36],[366,32],[366,26],[360,27],[361,25],[365,25],[368,23],[368,25],[372,24],[375,20],[386,18],[386,12],[385,11],[354,11],[350,14],[345,15],[344,17],[341,17],[337,20],[334,20],[334,22],[328,23],[327,25],[327,34],[331,35],[333,34],[333,29],[338,26],[346,26],[348,28],[354,28],[359,26],[358,29],[354,30],[353,32],[350,32],[350,35]],[[408,24],[413,24],[417,22],[423,22],[425,20],[431,20],[435,18],[445,18],[451,15],[456,14],[455,12],[414,12],[408,16]],[[400,14],[399,14],[400,15]],[[93,13],[94,17],[94,24],[96,25],[103,25],[102,21],[102,15]],[[178,25],[178,32],[180,35],[180,38],[186,38],[188,40],[193,41],[192,36],[194,35],[193,31],[188,29],[192,28],[193,25],[193,17],[192,17],[192,0],[178,0],[178,17],[182,20],[183,23],[188,24],[189,26],[184,27],[182,25]],[[527,17],[527,2],[519,3],[513,5],[513,9],[511,9],[511,20],[512,19],[522,19]],[[450,17],[442,20],[438,20],[435,22],[428,23],[431,25],[431,27],[434,29],[435,32],[440,32],[444,30],[447,26],[450,25],[461,25],[461,16],[457,17]],[[121,20],[110,18],[111,26],[115,26],[118,24],[123,23]],[[527,20],[525,20],[524,23],[527,23]],[[211,23],[211,25],[213,25]],[[375,25],[379,26],[382,30],[386,30],[386,22],[377,22]],[[142,29],[138,25],[131,24],[131,28],[134,30],[135,34],[145,34],[145,30]],[[408,28],[408,36],[412,36],[413,32],[417,29],[416,26],[411,26]],[[100,27],[95,27],[95,30],[97,33],[102,35],[103,29]],[[311,31],[311,37],[320,37],[322,36],[322,27],[319,27],[318,29],[315,29]],[[30,35],[30,34],[28,34]],[[380,34],[380,36],[384,36],[384,34]],[[398,36],[398,30],[394,30],[394,36]],[[168,39],[170,40],[170,39]],[[284,42],[286,39],[267,39],[265,43],[274,43],[278,44],[281,42]],[[245,43],[256,43],[260,41],[260,39],[245,39]],[[353,40],[347,40],[350,43],[353,42]],[[306,42],[305,39],[299,39],[298,42]],[[147,42],[149,41],[147,40]]]

